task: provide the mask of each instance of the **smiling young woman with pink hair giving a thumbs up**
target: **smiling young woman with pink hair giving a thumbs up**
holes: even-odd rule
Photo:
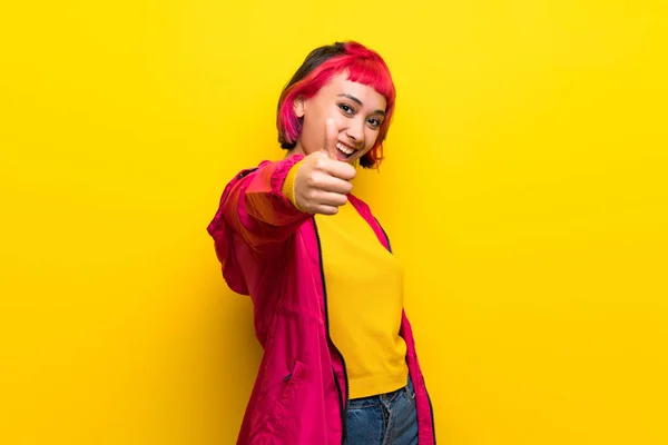
[[[435,443],[402,266],[351,194],[354,166],[382,160],[394,98],[375,51],[316,48],[278,101],[285,159],[223,192],[208,233],[264,348],[238,444]]]

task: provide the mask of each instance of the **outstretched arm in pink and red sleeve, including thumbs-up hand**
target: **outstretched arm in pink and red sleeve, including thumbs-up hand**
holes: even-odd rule
[[[225,226],[258,250],[285,240],[314,214],[336,214],[347,201],[350,180],[355,177],[354,167],[337,160],[337,135],[334,120],[328,119],[322,150],[265,161],[237,175],[225,188],[208,227],[216,245],[225,241]],[[293,168],[297,162],[299,166]]]

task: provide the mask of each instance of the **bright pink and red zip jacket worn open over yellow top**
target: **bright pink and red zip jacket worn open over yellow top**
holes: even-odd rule
[[[255,335],[264,348],[237,439],[242,445],[336,445],[345,436],[347,376],[330,337],[315,218],[281,192],[289,168],[302,158],[264,161],[239,172],[208,226],[227,285],[253,299]],[[348,198],[391,249],[369,207]],[[401,335],[415,387],[419,441],[431,445],[433,412],[405,312]]]

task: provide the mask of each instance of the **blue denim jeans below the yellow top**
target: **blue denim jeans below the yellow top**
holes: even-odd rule
[[[350,400],[346,445],[416,445],[415,390],[409,384],[377,396]]]

